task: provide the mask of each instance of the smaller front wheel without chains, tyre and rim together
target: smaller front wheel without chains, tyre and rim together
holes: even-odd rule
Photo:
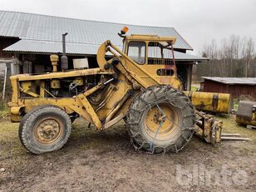
[[[71,135],[71,119],[57,106],[38,106],[23,116],[18,132],[33,154],[59,150]]]

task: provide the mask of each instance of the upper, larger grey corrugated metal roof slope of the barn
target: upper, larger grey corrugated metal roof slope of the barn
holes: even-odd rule
[[[121,46],[121,37],[117,35],[121,28],[129,27],[134,34],[177,37],[175,48],[192,50],[193,48],[173,27],[147,27],[126,25],[113,22],[96,22],[66,17],[53,17],[25,12],[0,11],[0,36],[20,37],[22,39],[62,41],[62,33],[68,32],[66,42],[101,44],[111,40]]]

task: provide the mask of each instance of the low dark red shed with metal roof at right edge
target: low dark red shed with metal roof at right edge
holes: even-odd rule
[[[252,96],[256,99],[256,77],[211,77],[202,76],[200,90],[206,92],[229,93],[234,98]]]

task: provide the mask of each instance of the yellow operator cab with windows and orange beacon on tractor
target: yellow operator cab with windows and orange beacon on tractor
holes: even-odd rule
[[[119,35],[124,38],[124,52],[135,63],[152,71],[155,76],[176,76],[173,44],[175,37],[131,34],[124,27]]]

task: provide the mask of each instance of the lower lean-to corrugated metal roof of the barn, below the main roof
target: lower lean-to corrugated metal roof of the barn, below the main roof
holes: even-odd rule
[[[81,55],[95,55],[100,44],[90,44],[90,43],[78,43],[78,42],[66,42],[66,53],[67,54],[81,54]],[[119,46],[121,49],[121,47]],[[62,52],[62,42],[49,42],[49,41],[37,41],[37,40],[27,40],[22,39],[19,42],[12,44],[11,46],[4,49],[4,51],[12,52],[45,52],[45,53],[61,53]],[[160,58],[160,52],[154,55],[151,52],[150,57]],[[170,56],[170,54],[166,54]],[[171,58],[171,56],[170,56]],[[196,57],[190,54],[185,54],[182,52],[175,52],[176,60],[189,60],[189,61],[199,61],[206,58]]]

